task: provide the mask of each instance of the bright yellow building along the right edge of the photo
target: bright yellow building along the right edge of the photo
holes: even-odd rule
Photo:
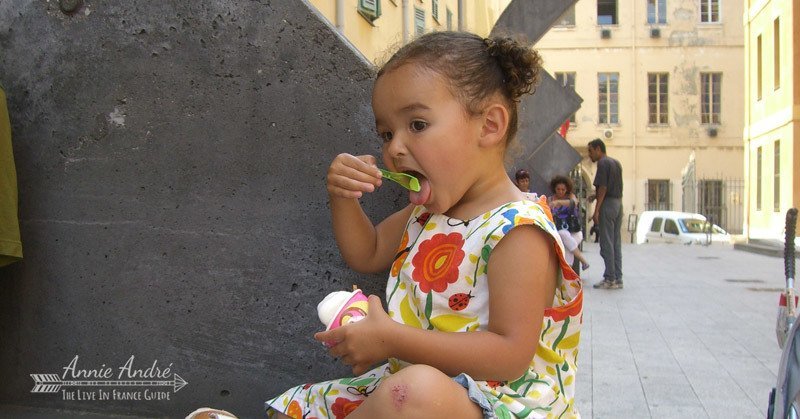
[[[745,3],[744,230],[783,240],[786,210],[800,206],[800,6]]]

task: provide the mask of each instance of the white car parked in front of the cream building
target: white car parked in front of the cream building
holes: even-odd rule
[[[636,223],[636,243],[730,243],[731,236],[702,214],[679,211],[645,211]]]

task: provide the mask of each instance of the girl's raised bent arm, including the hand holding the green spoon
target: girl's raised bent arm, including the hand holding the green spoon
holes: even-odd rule
[[[340,154],[328,169],[333,234],[342,258],[357,272],[380,272],[391,265],[413,209],[409,205],[373,225],[358,198],[380,185],[374,156]]]

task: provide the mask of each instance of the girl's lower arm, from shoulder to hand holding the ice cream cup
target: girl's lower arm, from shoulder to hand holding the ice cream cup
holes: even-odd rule
[[[517,227],[489,259],[487,331],[449,333],[396,323],[372,296],[366,319],[315,338],[339,342],[330,353],[352,366],[355,374],[395,357],[451,376],[466,372],[476,380],[513,380],[525,372],[536,352],[557,269],[552,239],[538,228]]]

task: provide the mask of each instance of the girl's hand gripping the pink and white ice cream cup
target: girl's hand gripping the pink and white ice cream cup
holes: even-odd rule
[[[364,320],[316,333],[314,339],[320,342],[337,342],[328,353],[341,358],[345,365],[353,368],[353,374],[360,375],[367,372],[369,367],[389,358],[387,337],[398,325],[399,323],[386,314],[381,299],[371,295]]]

